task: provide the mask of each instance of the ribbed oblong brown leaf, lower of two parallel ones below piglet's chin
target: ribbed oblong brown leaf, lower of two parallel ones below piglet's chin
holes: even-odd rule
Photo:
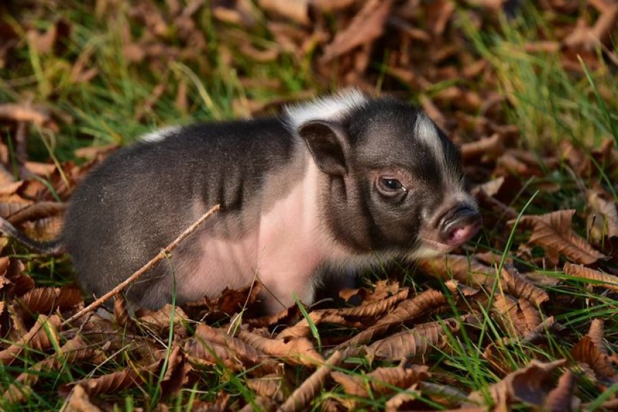
[[[457,332],[457,319],[444,319],[422,323],[411,330],[391,334],[385,339],[376,341],[367,348],[369,358],[400,361],[428,354],[434,347],[442,346],[448,333]]]

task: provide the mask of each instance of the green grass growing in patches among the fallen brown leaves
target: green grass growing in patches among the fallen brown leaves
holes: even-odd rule
[[[21,101],[23,96],[28,96],[33,102],[43,104],[52,113],[56,113],[58,117],[71,117],[71,122],[62,122],[60,133],[54,133],[54,145],[43,143],[43,135],[52,133],[51,131],[30,130],[30,141],[38,141],[38,144],[33,144],[31,148],[33,159],[47,159],[54,155],[59,161],[72,160],[73,150],[76,148],[108,143],[129,144],[138,135],[159,126],[236,117],[243,113],[242,101],[247,96],[265,102],[271,98],[293,97],[318,84],[317,79],[312,76],[310,60],[307,58],[302,60],[283,54],[273,62],[255,64],[235,50],[227,50],[225,40],[216,30],[208,8],[204,8],[198,19],[201,30],[209,37],[208,53],[187,62],[169,62],[163,70],[157,71],[148,62],[129,62],[122,52],[122,27],[129,25],[133,30],[139,30],[135,21],[128,16],[128,5],[121,2],[121,10],[117,14],[101,20],[93,16],[89,5],[81,2],[70,3],[71,7],[60,10],[59,14],[45,10],[45,16],[38,16],[34,21],[34,25],[43,30],[54,21],[50,16],[61,15],[71,23],[72,34],[64,40],[62,52],[40,54],[32,43],[25,40],[25,33],[20,32],[22,40],[10,59],[10,65],[0,69],[0,101]],[[532,8],[529,11],[525,18],[503,21],[501,30],[492,33],[477,32],[462,23],[472,47],[481,58],[490,62],[497,86],[507,98],[503,112],[510,123],[518,126],[521,131],[522,146],[536,152],[538,157],[552,152],[565,139],[586,148],[588,154],[599,146],[603,139],[614,139],[618,146],[618,82],[615,81],[615,72],[604,62],[592,71],[582,61],[583,74],[574,75],[564,69],[560,59],[553,53],[526,52],[525,45],[538,38],[541,29],[547,33],[547,27],[544,27],[547,25],[547,16],[542,16]],[[251,34],[249,39],[268,48],[273,43],[273,38],[266,29],[266,17],[262,15],[261,19],[258,21],[257,34]],[[21,30],[18,21],[12,20],[10,23],[16,30]],[[227,32],[230,33],[233,34]],[[166,45],[174,45],[175,42],[173,34],[163,38]],[[231,54],[231,60],[225,58],[226,53]],[[92,82],[71,81],[71,62],[76,60],[91,62],[93,67],[98,69],[98,76]],[[239,73],[242,73],[242,78],[251,78],[255,83],[250,87],[245,86]],[[380,84],[383,76],[387,74],[380,73]],[[260,86],[260,83],[266,86]],[[160,97],[150,104],[152,93],[160,84],[165,84],[165,89]],[[277,84],[277,87],[273,90],[267,84]],[[175,104],[179,90],[183,87],[187,89],[188,102],[184,109]],[[607,165],[596,164],[605,176],[606,187],[614,194],[614,201],[618,201],[612,185],[612,182],[618,180],[617,171],[607,169]],[[558,170],[546,172],[546,176],[533,179],[525,185],[514,201],[515,209],[523,210],[526,203],[532,203],[531,213],[544,213],[566,206],[575,206],[581,211],[585,193],[582,191],[580,178],[573,176],[565,164]],[[551,193],[540,192],[535,198],[534,194],[544,181],[558,182],[560,189]],[[584,188],[588,187],[589,183],[584,181]],[[575,229],[585,233],[584,222],[580,222]],[[496,250],[491,244],[481,246],[494,249],[506,257],[512,255],[510,240],[502,250]],[[42,261],[32,255],[18,257],[27,260],[29,271],[36,275],[37,284],[58,285],[67,282],[67,264],[56,264],[54,260]],[[556,275],[556,272],[551,274]],[[581,331],[583,334],[591,318],[606,319],[606,338],[615,342],[618,337],[615,301],[591,292],[586,284],[576,278],[558,275],[563,277],[566,284],[547,288],[549,293],[572,297],[577,303],[585,302],[591,306],[561,307],[562,302],[558,301],[554,308],[556,321],[569,330]],[[405,279],[412,283],[418,282],[419,278],[415,273],[410,273]],[[500,290],[494,289],[488,293],[491,301]],[[459,309],[453,305],[453,311],[459,312]],[[307,316],[305,312],[304,315]],[[484,313],[480,322],[483,324],[480,330],[462,325],[461,335],[449,334],[448,349],[440,348],[435,351],[429,362],[435,373],[448,374],[454,386],[466,390],[486,391],[488,385],[499,380],[495,369],[481,356],[485,350],[483,336],[499,340],[510,334],[508,328],[490,311]],[[319,328],[311,326],[312,334],[319,342]],[[172,319],[170,342],[173,332]],[[569,345],[572,343],[565,346],[562,342],[550,340],[543,348],[531,344],[515,344],[496,347],[496,350],[504,356],[505,365],[516,369],[533,356],[545,359],[568,358]],[[165,359],[167,360],[167,357]],[[27,352],[22,361],[23,366],[19,368],[23,367],[24,370],[34,363]],[[115,366],[111,361],[111,365],[102,367],[113,371]],[[374,366],[358,361],[353,373],[362,376]],[[16,367],[0,365],[1,386],[9,385],[14,374],[20,371],[21,369]],[[163,379],[163,371],[164,369],[161,370],[159,381]],[[41,388],[41,393],[34,393],[26,405],[16,407],[0,401],[0,409],[59,409],[62,400],[56,396],[58,386],[85,378],[89,371],[65,365],[60,371],[51,374],[54,378],[46,381],[53,382],[53,385]],[[225,365],[219,365],[209,369],[209,374],[204,374],[192,388],[183,389],[168,406],[174,411],[189,410],[193,400],[213,400],[221,389],[251,401],[255,393],[247,388],[245,378],[243,374],[234,374]],[[304,377],[296,378],[301,381]],[[586,382],[584,376],[582,380]],[[579,396],[586,402],[593,402],[591,409],[594,409],[617,390],[618,387],[614,385],[608,391],[602,392],[586,382]],[[341,390],[338,394],[343,396]],[[146,393],[127,391],[124,407],[131,410],[139,404],[153,409],[159,396],[159,385],[153,382]],[[319,400],[328,400],[330,396],[332,393],[324,392]],[[376,396],[375,399],[362,402],[362,408],[379,409],[383,407],[385,398]],[[424,399],[421,402],[432,405],[433,401]],[[319,410],[319,402],[314,405],[314,410]]]

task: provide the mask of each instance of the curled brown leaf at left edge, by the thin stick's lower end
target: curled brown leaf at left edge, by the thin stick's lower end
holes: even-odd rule
[[[60,317],[55,314],[50,317],[41,314],[27,334],[0,352],[0,363],[10,365],[27,348],[46,350],[52,347],[54,342],[58,342],[60,323]]]

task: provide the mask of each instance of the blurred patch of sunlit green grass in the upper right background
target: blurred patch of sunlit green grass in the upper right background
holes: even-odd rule
[[[491,63],[507,98],[505,113],[519,127],[525,147],[542,150],[569,140],[593,148],[603,139],[617,139],[618,82],[600,50],[599,68],[584,67],[586,76],[569,72],[560,52],[527,52],[527,45],[544,40],[541,30],[551,36],[547,18],[530,6],[514,21],[503,20],[500,32],[478,32],[464,16],[459,21]]]

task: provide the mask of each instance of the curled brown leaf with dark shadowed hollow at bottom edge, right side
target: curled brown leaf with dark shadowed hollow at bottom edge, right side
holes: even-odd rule
[[[495,404],[510,404],[512,402],[527,402],[529,404],[542,405],[547,393],[551,391],[551,371],[562,367],[567,363],[564,359],[549,363],[536,360],[531,361],[526,367],[518,369],[500,382],[489,388],[490,396]],[[481,391],[470,393],[468,397],[472,402],[485,403],[485,397]]]

